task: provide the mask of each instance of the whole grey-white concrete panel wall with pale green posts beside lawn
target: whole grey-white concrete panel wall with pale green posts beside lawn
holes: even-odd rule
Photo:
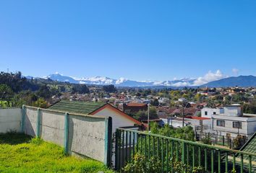
[[[64,146],[78,154],[109,164],[111,117],[69,114],[68,112],[22,108],[0,109],[0,133],[16,130]]]

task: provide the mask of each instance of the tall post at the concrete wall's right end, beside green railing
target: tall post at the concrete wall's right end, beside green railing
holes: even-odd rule
[[[111,167],[111,153],[112,153],[112,117],[105,119],[105,153],[104,164]]]

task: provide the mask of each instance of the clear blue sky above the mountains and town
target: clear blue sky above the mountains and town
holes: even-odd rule
[[[256,1],[235,0],[0,1],[0,70],[133,80],[256,75],[255,9]]]

